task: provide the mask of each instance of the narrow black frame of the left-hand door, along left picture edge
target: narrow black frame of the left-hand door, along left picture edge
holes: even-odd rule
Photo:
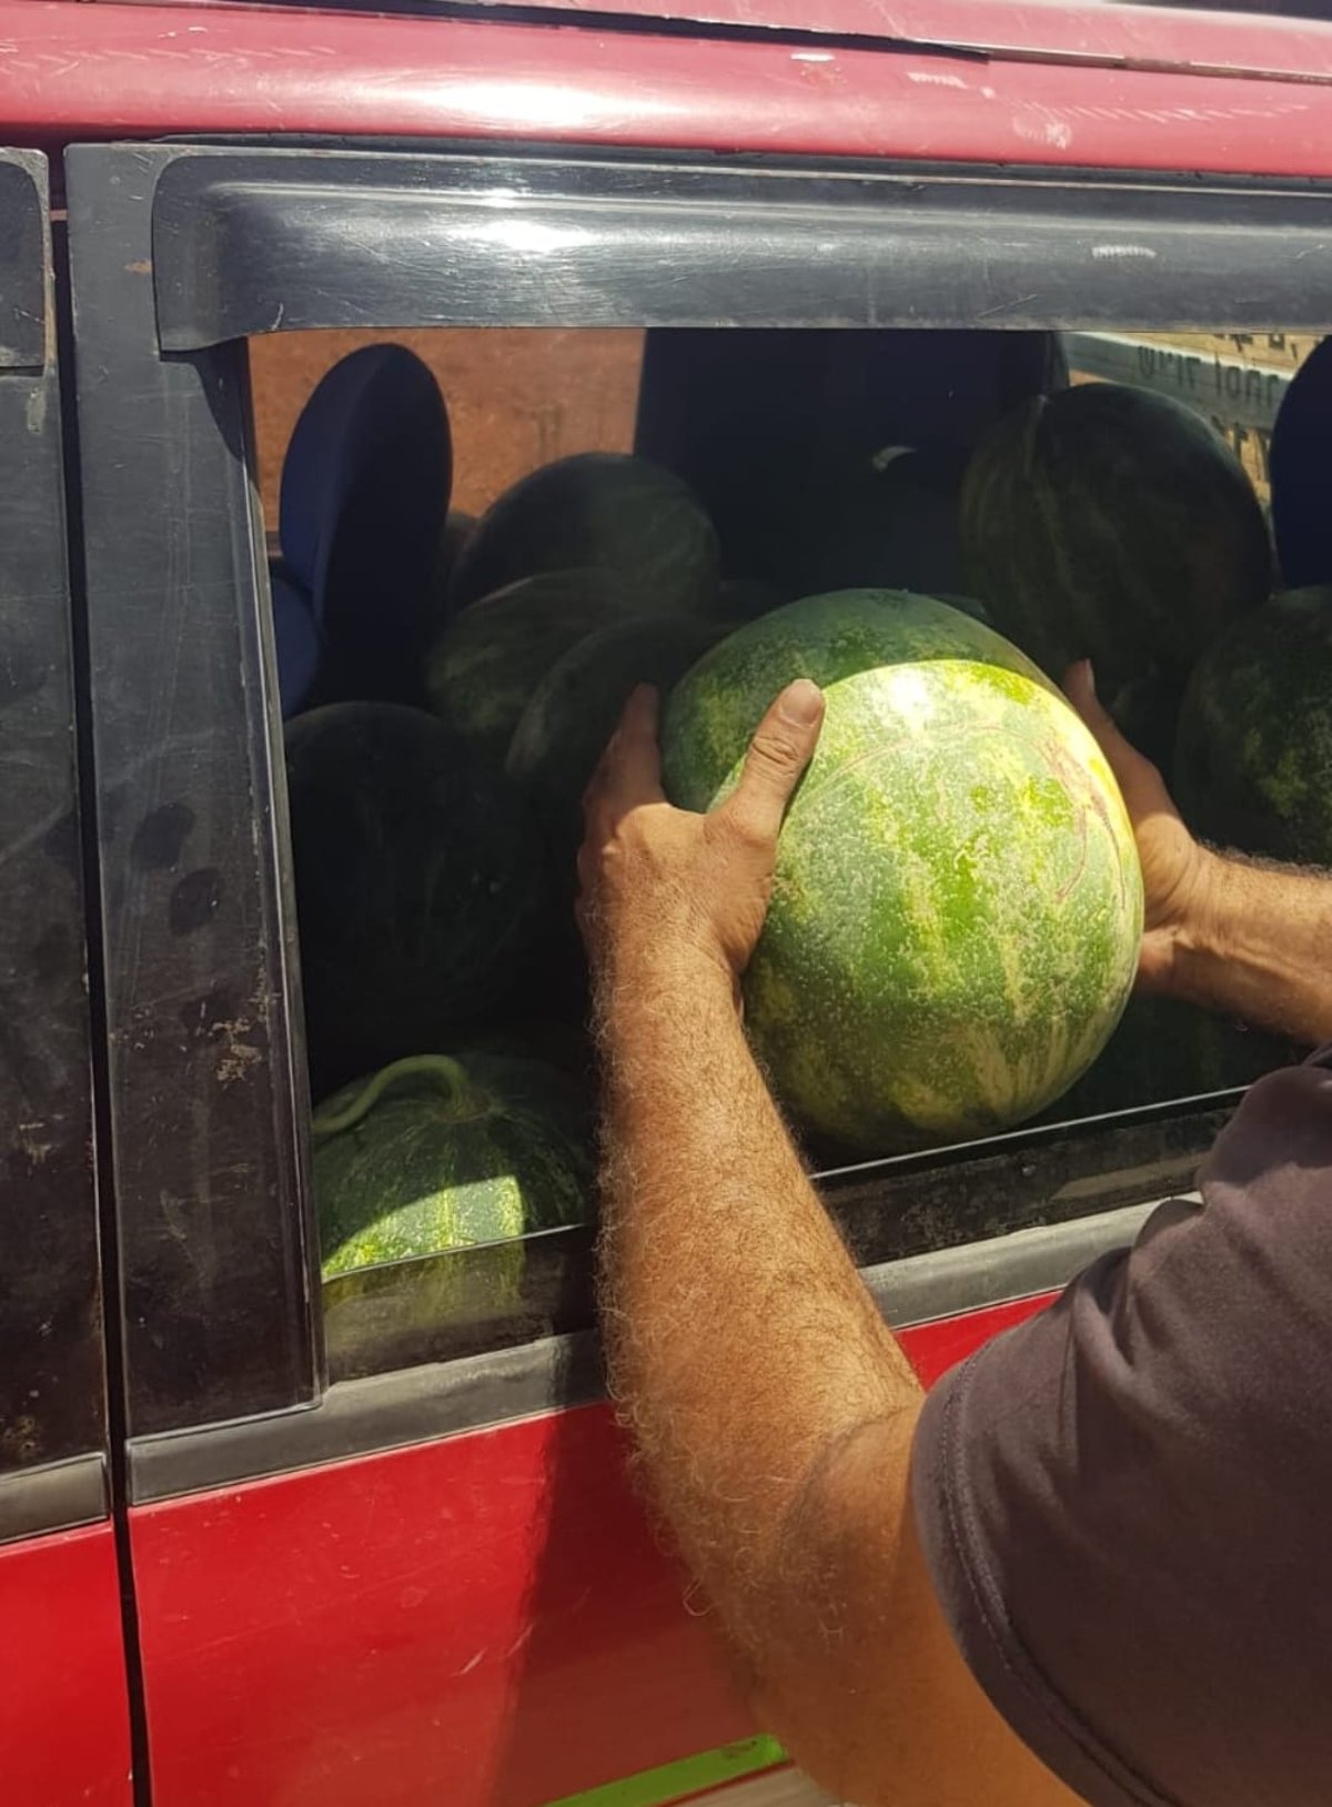
[[[108,1511],[74,658],[49,168],[0,150],[0,1541]]]

